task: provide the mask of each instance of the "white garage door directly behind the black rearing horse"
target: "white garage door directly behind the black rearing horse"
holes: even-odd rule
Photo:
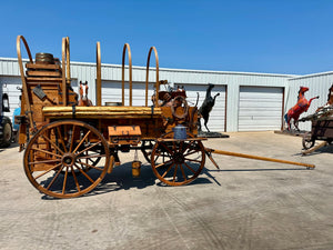
[[[208,84],[181,84],[184,86],[188,94],[188,101],[191,106],[194,106],[196,102],[196,92],[199,92],[199,102],[198,108],[201,107],[204,98]],[[176,87],[176,84],[175,84]],[[220,93],[215,99],[215,106],[210,112],[210,119],[208,122],[208,128],[214,132],[224,132],[225,131],[225,86],[216,86],[213,88],[211,96],[214,97],[216,93]],[[201,119],[202,130],[206,131]]]

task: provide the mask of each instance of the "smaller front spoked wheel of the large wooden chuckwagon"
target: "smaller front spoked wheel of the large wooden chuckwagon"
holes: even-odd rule
[[[200,140],[158,140],[152,153],[154,174],[169,186],[188,184],[204,167],[205,152]]]

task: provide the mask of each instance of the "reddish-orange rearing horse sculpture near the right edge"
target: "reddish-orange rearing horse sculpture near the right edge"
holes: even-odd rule
[[[284,114],[284,120],[287,123],[287,130],[291,130],[291,119],[293,119],[294,127],[297,131],[299,129],[299,118],[303,112],[306,112],[309,107],[311,106],[311,102],[314,99],[319,99],[319,97],[311,98],[309,101],[306,100],[304,93],[309,90],[307,87],[300,87],[299,97],[297,97],[297,103],[291,108],[287,113]]]

